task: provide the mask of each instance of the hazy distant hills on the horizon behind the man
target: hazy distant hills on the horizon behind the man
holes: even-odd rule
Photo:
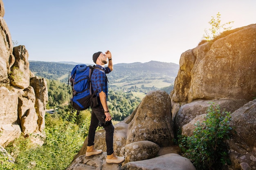
[[[29,68],[36,76],[68,83],[69,72],[77,64],[81,63],[29,61]],[[119,63],[113,67],[114,70],[107,75],[112,89],[160,89],[173,84],[179,70],[175,63],[159,61]]]

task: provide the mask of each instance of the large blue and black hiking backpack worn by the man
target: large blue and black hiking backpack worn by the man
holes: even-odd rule
[[[69,81],[72,86],[72,98],[70,103],[78,111],[88,109],[91,105],[92,97],[97,90],[92,93],[91,75],[95,65],[76,65],[71,71]]]

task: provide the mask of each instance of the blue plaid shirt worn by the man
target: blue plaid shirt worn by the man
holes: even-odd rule
[[[97,96],[103,91],[106,93],[106,98],[108,98],[108,79],[106,74],[110,73],[111,70],[108,67],[103,68],[98,64],[95,67],[100,68],[100,70],[94,69],[92,72],[92,90],[95,92],[95,90],[98,89]]]

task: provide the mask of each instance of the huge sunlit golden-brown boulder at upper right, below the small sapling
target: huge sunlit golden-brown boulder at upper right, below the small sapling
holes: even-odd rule
[[[256,89],[256,24],[181,55],[173,102],[252,100]]]

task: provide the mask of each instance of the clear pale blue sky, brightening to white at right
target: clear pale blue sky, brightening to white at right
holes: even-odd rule
[[[256,23],[256,0],[3,0],[11,38],[29,60],[92,63],[110,50],[113,63],[179,64],[211,16],[233,28]]]

